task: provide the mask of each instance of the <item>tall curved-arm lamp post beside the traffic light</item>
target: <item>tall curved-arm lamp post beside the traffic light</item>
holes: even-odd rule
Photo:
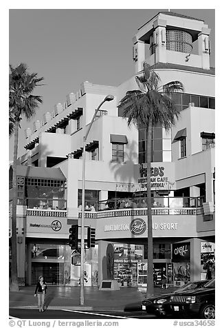
[[[91,120],[91,123],[89,124],[87,128],[87,132],[85,136],[83,137],[83,150],[82,150],[82,218],[81,218],[81,263],[80,263],[80,305],[84,305],[84,259],[85,259],[85,252],[84,252],[84,246],[85,246],[85,149],[86,149],[86,143],[87,143],[87,136],[89,134],[89,130],[91,129],[91,126],[93,125],[93,121],[96,118],[96,114],[98,113],[98,110],[100,110],[100,107],[103,103],[106,101],[111,101],[114,99],[114,96],[109,94],[104,98],[102,103],[98,105],[93,118]]]

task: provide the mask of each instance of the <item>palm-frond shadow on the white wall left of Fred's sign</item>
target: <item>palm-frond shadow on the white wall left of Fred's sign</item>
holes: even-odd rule
[[[109,163],[111,171],[114,172],[115,181],[133,183],[133,166],[137,163],[138,154],[135,152],[137,147],[137,142],[132,141],[131,144],[127,143],[125,145],[124,158],[125,163]]]

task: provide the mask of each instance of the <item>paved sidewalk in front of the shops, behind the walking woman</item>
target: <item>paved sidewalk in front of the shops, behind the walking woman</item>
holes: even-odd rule
[[[167,294],[175,287],[161,289],[155,287],[154,294]],[[10,307],[37,309],[37,298],[34,297],[34,286],[20,287],[20,291],[9,291]],[[138,311],[146,288],[122,287],[118,291],[99,291],[98,287],[85,287],[85,304],[80,305],[80,287],[49,286],[45,296],[47,309],[73,309],[88,311]]]

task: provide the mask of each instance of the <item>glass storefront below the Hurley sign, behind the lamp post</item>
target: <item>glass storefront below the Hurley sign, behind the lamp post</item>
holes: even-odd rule
[[[36,284],[38,276],[41,275],[44,276],[47,285],[79,285],[80,254],[71,252],[69,245],[30,243],[27,249],[30,249],[30,269],[27,275],[30,275],[32,285]],[[85,286],[97,286],[98,245],[94,249],[85,249],[84,265]]]

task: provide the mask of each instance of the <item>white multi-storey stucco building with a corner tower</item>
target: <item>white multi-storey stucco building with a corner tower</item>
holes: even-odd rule
[[[135,74],[144,61],[153,66],[162,84],[179,80],[184,86],[184,93],[173,96],[181,110],[179,121],[168,133],[163,127],[153,129],[155,283],[161,281],[162,267],[170,285],[205,277],[203,260],[214,258],[215,106],[209,35],[204,21],[158,13],[133,38],[131,79],[116,87],[86,81],[26,130],[26,152],[19,158],[17,174],[23,185],[17,209],[19,263],[27,263],[19,265],[21,283],[34,283],[43,273],[49,283],[78,285],[79,261],[71,265],[67,238],[71,224],[80,223],[82,139],[96,107],[113,94],[114,100],[100,108],[87,139],[85,200],[96,212],[86,212],[85,225],[96,228],[97,239],[95,249],[86,252],[87,284],[99,285],[107,278],[110,243],[114,277],[120,284],[146,284],[146,192],[144,170],[139,172],[139,165],[146,167],[146,134],[127,127],[119,106],[126,91],[137,89]],[[132,199],[133,208],[122,208],[122,198]],[[142,230],[136,233],[137,221]],[[39,249],[36,258],[31,256],[34,244]],[[186,249],[182,257],[177,254],[180,247]]]

